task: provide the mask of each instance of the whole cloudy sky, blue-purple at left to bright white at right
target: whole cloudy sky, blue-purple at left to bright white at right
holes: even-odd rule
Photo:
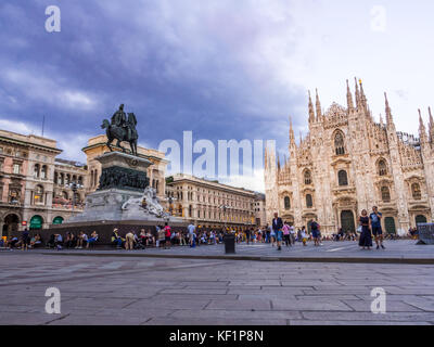
[[[46,8],[61,9],[47,33]],[[388,93],[397,128],[434,106],[431,0],[2,0],[0,128],[55,138],[65,158],[120,103],[140,143],[276,139],[307,131],[307,90],[346,104],[361,78],[374,116]],[[353,82],[352,82],[353,85]],[[261,172],[233,183],[263,189]]]

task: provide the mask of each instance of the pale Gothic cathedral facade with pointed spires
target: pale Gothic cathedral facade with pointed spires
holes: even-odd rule
[[[361,81],[355,102],[347,81],[347,107],[333,103],[323,114],[309,93],[309,132],[297,144],[290,126],[289,159],[266,149],[267,221],[273,213],[296,228],[317,220],[324,234],[355,231],[362,209],[378,206],[383,230],[403,234],[434,221],[434,120],[419,138],[397,132],[385,94],[384,124],[375,123]]]

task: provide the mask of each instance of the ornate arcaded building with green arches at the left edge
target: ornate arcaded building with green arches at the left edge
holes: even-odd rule
[[[73,213],[72,190],[55,184],[58,172],[86,178],[84,167],[60,163],[56,141],[0,130],[0,231],[47,228]],[[62,196],[64,200],[58,200]],[[79,200],[81,201],[81,198]],[[77,200],[77,203],[79,202]],[[80,210],[76,206],[76,210]]]

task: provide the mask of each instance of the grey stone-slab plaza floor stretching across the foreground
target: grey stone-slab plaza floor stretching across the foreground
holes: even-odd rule
[[[265,256],[277,253],[261,246],[243,245],[238,254],[253,252],[247,247]],[[349,252],[340,247],[353,246],[330,243],[321,250],[283,253]],[[0,324],[434,324],[434,265],[137,256],[156,252],[111,250],[95,257],[79,250],[63,256],[1,250]],[[222,247],[159,254],[170,252],[221,254]],[[44,312],[48,287],[61,292],[60,314]],[[375,287],[386,292],[385,314],[371,312]]]

